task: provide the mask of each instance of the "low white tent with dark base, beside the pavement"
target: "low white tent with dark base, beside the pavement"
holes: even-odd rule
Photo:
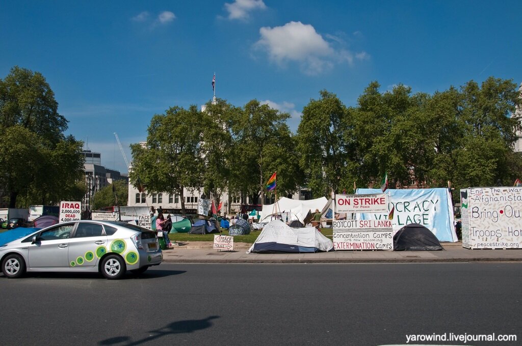
[[[315,227],[292,228],[281,220],[270,221],[247,253],[302,253],[330,251],[334,243]]]

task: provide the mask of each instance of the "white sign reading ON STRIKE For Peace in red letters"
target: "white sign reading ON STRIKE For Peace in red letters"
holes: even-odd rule
[[[387,213],[388,194],[335,195],[336,213]]]

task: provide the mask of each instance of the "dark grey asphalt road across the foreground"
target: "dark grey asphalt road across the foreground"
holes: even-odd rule
[[[388,345],[516,335],[522,264],[162,264],[119,281],[0,275],[2,345]],[[449,339],[448,339],[449,340]]]

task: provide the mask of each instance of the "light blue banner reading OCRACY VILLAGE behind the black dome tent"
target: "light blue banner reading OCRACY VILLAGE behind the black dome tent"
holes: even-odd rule
[[[458,241],[455,233],[453,205],[446,188],[388,189],[389,207],[395,207],[393,231],[409,224],[420,224],[435,234],[439,241]],[[381,189],[357,189],[357,194],[382,193]],[[361,220],[385,220],[388,213],[355,214]]]

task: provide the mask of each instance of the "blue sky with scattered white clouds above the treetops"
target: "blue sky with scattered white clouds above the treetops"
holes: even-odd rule
[[[347,106],[371,81],[433,93],[522,82],[520,1],[2,1],[0,78],[18,65],[55,92],[68,133],[125,171],[118,134],[216,96],[289,112],[326,89]]]

